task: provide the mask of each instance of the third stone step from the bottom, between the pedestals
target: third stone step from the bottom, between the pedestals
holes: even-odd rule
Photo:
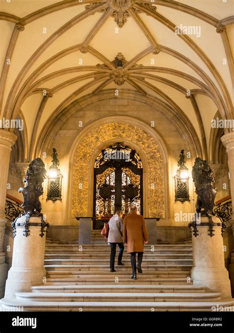
[[[193,285],[48,285],[33,286],[33,293],[205,293],[206,287]]]

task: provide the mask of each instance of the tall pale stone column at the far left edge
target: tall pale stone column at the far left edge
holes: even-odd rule
[[[0,129],[0,298],[4,295],[5,280],[8,265],[5,263],[3,252],[3,239],[5,233],[5,202],[6,185],[8,179],[11,147],[14,145],[17,136],[11,132]]]

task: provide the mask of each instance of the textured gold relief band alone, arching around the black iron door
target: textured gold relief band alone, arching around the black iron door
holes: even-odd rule
[[[144,179],[147,181],[147,193],[143,192],[143,195],[148,197],[149,217],[163,217],[164,175],[160,149],[156,141],[143,129],[119,122],[103,124],[93,129],[78,145],[73,165],[72,217],[88,216],[88,198],[93,194],[93,183],[88,184],[89,172],[94,167],[90,166],[90,159],[97,146],[111,139],[121,139],[123,142],[128,140],[144,151],[148,179]]]

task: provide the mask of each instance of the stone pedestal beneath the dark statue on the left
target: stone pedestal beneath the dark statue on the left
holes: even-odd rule
[[[25,219],[18,218],[17,223],[23,223]],[[25,226],[16,226],[12,266],[6,280],[5,297],[15,297],[16,292],[31,292],[31,287],[42,285],[46,276],[45,235],[40,236],[41,220],[31,217],[29,223],[30,231],[27,237],[23,235]]]

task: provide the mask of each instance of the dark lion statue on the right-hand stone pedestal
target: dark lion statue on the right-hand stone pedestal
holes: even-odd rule
[[[206,160],[196,157],[192,176],[197,194],[196,212],[205,216],[215,216],[213,208],[218,190],[214,187],[213,171]]]

